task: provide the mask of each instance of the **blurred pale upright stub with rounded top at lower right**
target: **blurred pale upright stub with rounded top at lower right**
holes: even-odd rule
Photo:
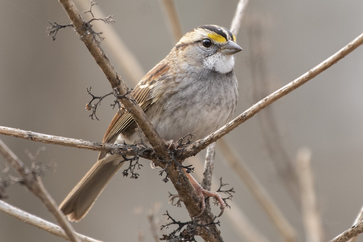
[[[323,228],[321,226],[321,215],[315,195],[313,172],[311,171],[310,149],[299,149],[296,161],[306,240],[311,242],[322,242],[324,241]]]

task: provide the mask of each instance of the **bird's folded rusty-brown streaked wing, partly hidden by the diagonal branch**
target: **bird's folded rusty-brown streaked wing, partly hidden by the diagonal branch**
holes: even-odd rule
[[[150,97],[151,87],[156,81],[163,78],[168,70],[169,67],[163,61],[160,62],[142,78],[132,91],[132,95],[143,111],[146,111],[152,102]],[[103,137],[103,142],[113,143],[115,138],[134,122],[129,112],[125,110],[121,110],[121,113],[117,112]]]

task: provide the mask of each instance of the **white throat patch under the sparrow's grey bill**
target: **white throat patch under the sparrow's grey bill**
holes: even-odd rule
[[[219,73],[228,73],[233,69],[234,57],[233,55],[224,55],[217,52],[205,58],[203,62],[208,69],[218,71]]]

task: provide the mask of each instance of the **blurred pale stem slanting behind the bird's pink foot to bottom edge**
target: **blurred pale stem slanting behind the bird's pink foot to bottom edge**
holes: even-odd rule
[[[192,156],[189,159],[189,162],[193,164],[196,171],[203,170],[203,161],[198,159],[196,156]],[[194,175],[199,179],[203,179],[201,173],[196,172]],[[218,184],[219,181],[217,179],[213,179],[212,184]],[[231,206],[231,209],[225,209],[224,215],[228,217],[228,222],[234,228],[236,233],[245,238],[247,242],[269,242],[269,240],[258,230],[256,226],[254,226],[251,221],[247,218],[247,216],[242,212],[239,208],[239,205],[233,200],[229,201],[228,204]]]

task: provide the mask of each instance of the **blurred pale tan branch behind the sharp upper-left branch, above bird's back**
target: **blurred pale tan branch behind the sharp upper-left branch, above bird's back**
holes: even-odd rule
[[[77,2],[81,4],[83,9],[87,9],[90,6],[89,0],[77,0]],[[92,6],[92,12],[95,16],[105,16],[98,5]],[[102,36],[105,37],[103,43],[109,48],[110,53],[113,53],[118,65],[131,78],[132,83],[136,85],[145,74],[140,62],[127,48],[125,42],[116,33],[113,26],[103,24],[101,21],[93,21],[92,24],[95,28],[102,29]]]

